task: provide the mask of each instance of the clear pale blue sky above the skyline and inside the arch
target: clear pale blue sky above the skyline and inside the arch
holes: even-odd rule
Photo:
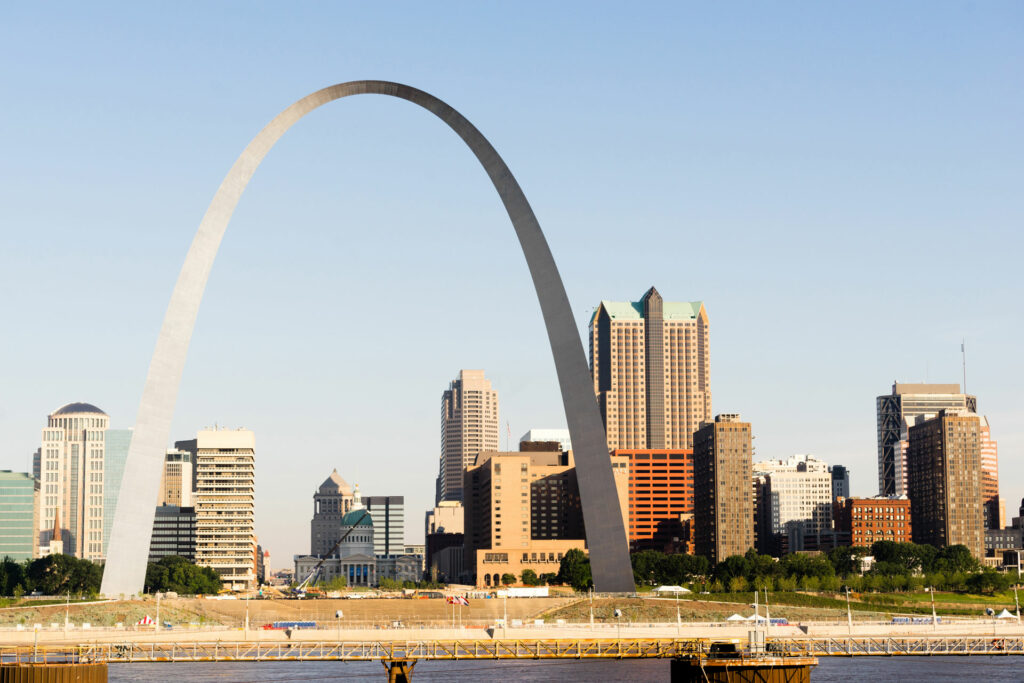
[[[876,396],[962,382],[1024,497],[1024,5],[8,3],[0,17],[0,467],[84,400],[130,427],[199,221],[294,100],[393,80],[460,110],[529,199],[586,334],[602,299],[701,300],[713,411],[755,457],[878,488]],[[508,217],[400,100],[272,150],[213,268],[171,438],[256,433],[256,531],[308,552],[335,468],[433,504],[441,392],[483,369],[502,445],[564,427]]]

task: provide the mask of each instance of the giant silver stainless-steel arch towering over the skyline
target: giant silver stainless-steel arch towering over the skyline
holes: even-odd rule
[[[404,99],[446,123],[476,155],[498,190],[526,257],[551,342],[572,437],[594,585],[604,592],[633,591],[626,529],[587,356],[555,260],[519,183],[480,131],[440,99],[399,83],[351,81],[317,90],[278,115],[234,162],[203,216],[150,362],[114,516],[101,592],[108,596],[142,592],[153,510],[188,342],[217,248],[242,193],[270,147],[299,119],[335,99],[362,94]]]

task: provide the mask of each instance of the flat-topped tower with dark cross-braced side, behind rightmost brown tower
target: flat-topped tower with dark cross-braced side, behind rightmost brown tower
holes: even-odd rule
[[[879,429],[879,495],[906,494],[909,426],[944,409],[978,412],[978,399],[961,393],[958,384],[893,384],[891,394],[876,399]]]

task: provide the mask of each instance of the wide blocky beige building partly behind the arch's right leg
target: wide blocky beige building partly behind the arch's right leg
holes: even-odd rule
[[[629,458],[612,456],[623,524],[628,523]],[[571,452],[483,452],[465,476],[465,567],[479,587],[511,573],[557,573],[562,556],[586,549]]]

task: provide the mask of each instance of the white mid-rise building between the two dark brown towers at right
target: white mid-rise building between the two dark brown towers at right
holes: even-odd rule
[[[757,492],[755,514],[761,552],[804,550],[804,538],[831,528],[833,474],[814,456],[754,463]]]

